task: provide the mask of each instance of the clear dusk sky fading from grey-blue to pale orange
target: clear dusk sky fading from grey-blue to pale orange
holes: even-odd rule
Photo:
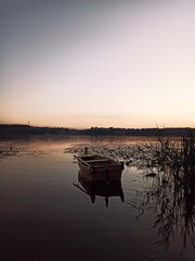
[[[195,127],[194,0],[0,0],[0,123]]]

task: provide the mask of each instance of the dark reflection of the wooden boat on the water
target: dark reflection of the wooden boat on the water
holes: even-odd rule
[[[105,199],[105,207],[108,207],[109,197],[119,197],[123,202],[123,191],[121,181],[92,181],[87,178],[86,173],[81,170],[78,172],[78,184],[74,186],[79,188],[84,194],[89,195],[91,202],[95,202],[95,197]]]

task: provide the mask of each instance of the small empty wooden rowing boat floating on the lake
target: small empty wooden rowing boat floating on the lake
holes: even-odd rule
[[[99,154],[76,157],[86,178],[94,182],[119,181],[123,163]]]

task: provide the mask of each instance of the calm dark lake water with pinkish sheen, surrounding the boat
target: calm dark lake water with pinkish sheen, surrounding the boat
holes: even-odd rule
[[[183,227],[174,229],[174,222],[164,224],[157,216],[158,188],[154,190],[154,178],[146,178],[143,170],[125,167],[123,201],[116,192],[108,207],[105,197],[95,196],[92,202],[81,184],[81,189],[74,186],[79,167],[68,148],[143,141],[132,137],[1,139],[0,260],[194,260],[192,238],[184,238]],[[170,236],[166,226],[171,226]]]

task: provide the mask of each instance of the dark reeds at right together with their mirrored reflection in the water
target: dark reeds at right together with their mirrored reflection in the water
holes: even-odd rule
[[[157,232],[155,245],[171,249],[176,235],[181,237],[180,253],[191,244],[195,249],[195,135],[188,132],[180,138],[157,137],[141,151],[142,165],[156,175],[147,175],[145,191],[138,191],[129,206],[135,217],[154,214],[151,229]],[[151,170],[150,170],[151,171]],[[158,175],[157,175],[158,174]]]

